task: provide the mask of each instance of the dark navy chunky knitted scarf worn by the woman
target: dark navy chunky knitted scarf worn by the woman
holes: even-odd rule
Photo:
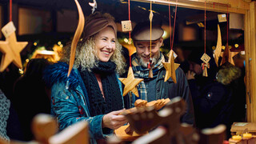
[[[115,74],[116,65],[114,62],[98,62],[92,72],[81,70],[82,81],[86,86],[90,101],[90,115],[108,114],[114,110],[122,110],[122,94],[119,90],[118,79]],[[100,74],[102,80],[102,91],[98,86],[97,78],[94,74]]]

